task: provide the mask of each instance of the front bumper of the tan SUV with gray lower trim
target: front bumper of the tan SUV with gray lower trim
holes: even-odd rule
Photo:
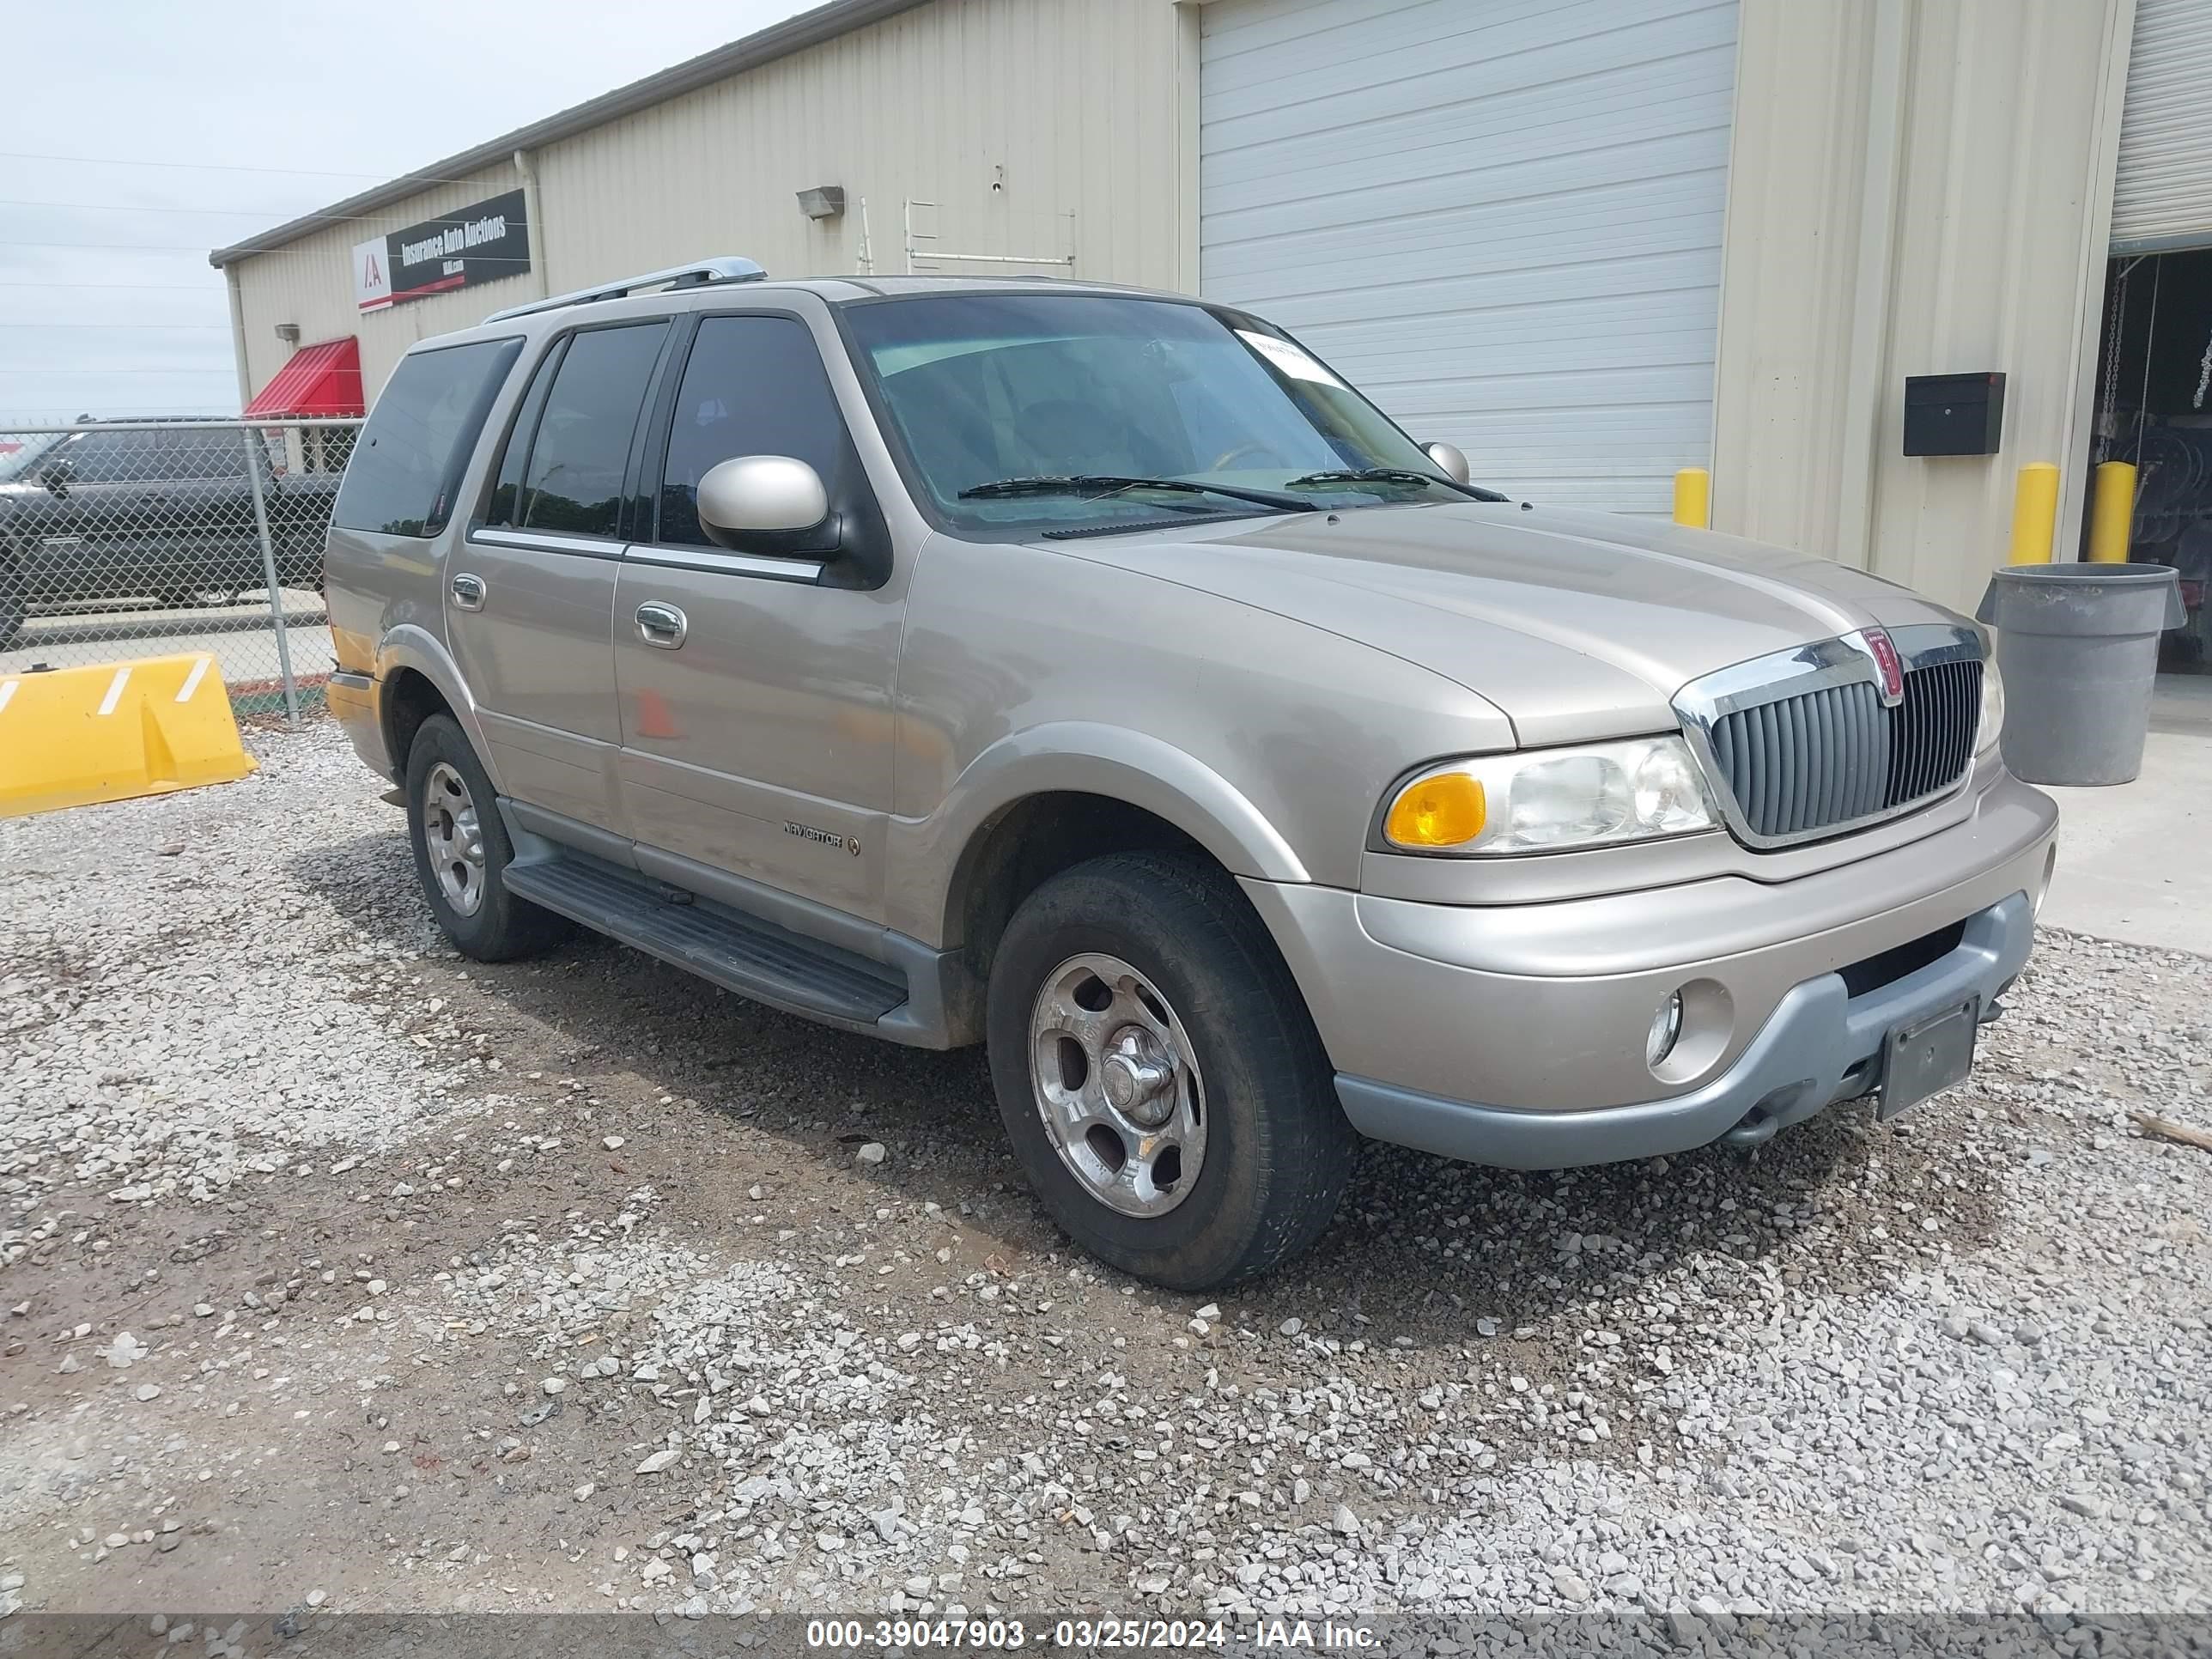
[[[1243,885],[1356,1128],[1564,1168],[1765,1139],[1876,1091],[1891,1029],[1969,1000],[1993,1018],[2055,827],[2048,796],[2000,776],[1951,827],[1785,883],[1489,907]],[[1652,1068],[1646,1031],[1674,989],[1690,1018]]]

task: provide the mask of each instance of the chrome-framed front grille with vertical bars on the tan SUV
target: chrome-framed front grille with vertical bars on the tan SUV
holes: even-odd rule
[[[1982,714],[1980,637],[1893,630],[1905,695],[1885,708],[1858,637],[1741,664],[1677,695],[1730,827],[1787,845],[1876,823],[1955,787]]]

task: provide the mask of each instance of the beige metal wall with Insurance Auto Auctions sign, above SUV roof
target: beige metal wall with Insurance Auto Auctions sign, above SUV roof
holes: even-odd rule
[[[776,276],[852,272],[860,197],[878,272],[905,265],[914,197],[938,204],[918,215],[938,250],[1073,252],[1077,276],[1175,288],[1179,62],[1168,0],[933,0],[538,150],[542,292],[721,252]],[[303,341],[358,334],[374,396],[414,341],[533,299],[538,272],[354,310],[356,241],[518,184],[500,166],[241,261],[252,385],[290,356],[276,323]],[[816,184],[845,186],[843,219],[801,215],[794,197]]]

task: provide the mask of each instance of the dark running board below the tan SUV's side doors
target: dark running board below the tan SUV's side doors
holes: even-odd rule
[[[597,858],[529,858],[504,880],[518,898],[790,1013],[874,1029],[907,1000],[905,980],[880,962]]]

